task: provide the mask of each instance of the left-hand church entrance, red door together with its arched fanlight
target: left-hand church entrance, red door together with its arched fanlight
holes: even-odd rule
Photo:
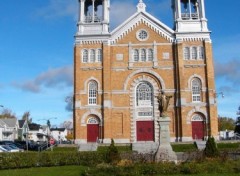
[[[87,142],[97,142],[99,139],[99,124],[97,119],[90,118],[87,124]]]

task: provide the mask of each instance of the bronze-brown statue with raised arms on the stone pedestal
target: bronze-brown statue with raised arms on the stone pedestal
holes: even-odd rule
[[[160,117],[166,117],[167,108],[169,106],[169,101],[172,98],[171,95],[165,95],[164,91],[161,91],[157,96],[158,99],[158,109],[160,111]]]

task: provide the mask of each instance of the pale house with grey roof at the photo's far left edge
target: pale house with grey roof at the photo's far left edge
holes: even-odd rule
[[[16,118],[0,119],[0,140],[14,141],[18,139],[18,120]]]

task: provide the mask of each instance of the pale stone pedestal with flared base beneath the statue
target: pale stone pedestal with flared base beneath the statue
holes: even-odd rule
[[[155,161],[177,161],[177,155],[170,145],[170,118],[160,117],[158,120],[160,130],[160,142],[155,156]]]

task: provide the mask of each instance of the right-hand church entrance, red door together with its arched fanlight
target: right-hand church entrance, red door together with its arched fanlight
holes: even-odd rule
[[[192,119],[192,138],[195,140],[204,139],[204,121],[199,115],[194,116]]]

